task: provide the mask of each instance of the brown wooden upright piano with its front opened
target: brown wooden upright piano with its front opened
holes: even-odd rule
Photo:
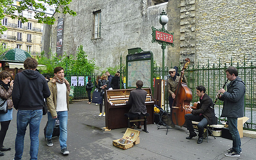
[[[151,88],[142,88],[147,91],[146,107],[147,124],[154,123],[154,104],[156,100],[153,99]],[[129,100],[130,92],[135,89],[122,89],[122,90],[106,90],[104,97],[105,113],[106,113],[106,127],[108,129],[125,128],[128,127],[128,119],[124,116],[128,113],[131,105],[126,105],[125,100]],[[143,125],[143,122],[141,122]]]

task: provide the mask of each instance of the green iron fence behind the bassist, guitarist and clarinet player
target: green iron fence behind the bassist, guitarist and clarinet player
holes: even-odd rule
[[[235,64],[231,59],[231,62],[228,64],[221,64],[219,61],[218,64],[208,63],[207,65],[196,64],[189,66],[188,69],[185,70],[185,76],[188,80],[187,85],[193,94],[193,99],[190,105],[192,106],[194,102],[199,100],[196,95],[196,86],[198,85],[204,85],[206,88],[206,93],[214,101],[217,91],[222,88],[223,84],[227,80],[225,70],[230,66],[238,69],[238,76],[245,83],[244,116],[248,117],[249,120],[244,124],[244,129],[256,131],[256,64],[253,64],[252,62],[250,64],[246,63],[245,58],[244,62],[241,64]],[[178,68],[178,73],[180,73],[182,67],[179,66]],[[168,78],[168,70],[169,68],[164,68],[165,80]],[[160,75],[162,75],[162,72],[162,68],[155,68],[153,74],[154,78],[161,78]],[[168,96],[167,85],[165,85],[165,110],[170,111],[170,108],[168,108]],[[227,121],[226,117],[220,117],[222,108],[223,102],[218,100],[214,106],[214,110],[215,115],[218,117],[219,124]]]

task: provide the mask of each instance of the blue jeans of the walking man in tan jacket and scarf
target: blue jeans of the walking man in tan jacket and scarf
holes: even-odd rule
[[[52,139],[52,132],[55,124],[55,119],[52,118],[51,112],[47,112],[48,124],[46,128],[46,138]],[[67,124],[68,124],[68,111],[57,111],[58,119],[60,121],[60,149],[67,148]]]

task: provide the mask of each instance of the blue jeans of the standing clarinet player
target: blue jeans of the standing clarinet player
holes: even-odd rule
[[[234,152],[240,154],[240,152],[242,151],[242,148],[241,148],[240,135],[237,129],[237,118],[233,118],[233,117],[227,117],[227,118],[228,118],[229,132],[231,133],[231,137],[233,140],[232,149]]]

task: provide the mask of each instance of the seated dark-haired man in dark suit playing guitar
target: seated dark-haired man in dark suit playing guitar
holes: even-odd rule
[[[196,94],[200,101],[199,109],[192,110],[190,107],[187,108],[191,114],[186,114],[186,125],[187,129],[189,131],[189,136],[186,137],[186,139],[190,140],[193,137],[196,137],[196,132],[194,131],[192,121],[199,122],[197,124],[198,128],[198,140],[197,143],[200,144],[203,142],[203,133],[204,128],[209,124],[216,124],[215,122],[215,114],[214,109],[212,107],[212,99],[205,93],[205,87],[202,85],[199,85],[196,87]],[[184,108],[185,109],[185,108]]]

